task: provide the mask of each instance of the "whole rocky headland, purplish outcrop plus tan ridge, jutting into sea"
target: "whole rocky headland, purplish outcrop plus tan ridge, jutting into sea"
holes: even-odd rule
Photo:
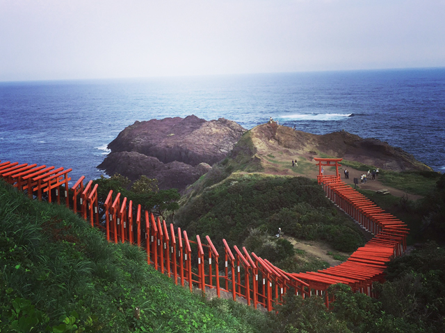
[[[401,148],[346,131],[315,135],[269,122],[246,132],[234,121],[193,115],[136,121],[108,148],[111,153],[98,167],[108,175],[130,180],[145,175],[158,179],[160,189],[179,191],[217,162],[212,173],[219,173],[218,179],[233,171],[315,178],[314,157],[327,156],[391,171],[431,170]],[[298,160],[298,167],[291,167],[291,160]]]

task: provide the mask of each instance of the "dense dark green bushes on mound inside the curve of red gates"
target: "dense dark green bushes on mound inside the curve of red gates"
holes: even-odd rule
[[[278,228],[298,239],[327,241],[340,251],[353,252],[364,244],[355,223],[335,209],[314,180],[302,177],[232,175],[189,200],[175,220],[189,234],[208,234],[219,245],[224,238],[239,246],[252,239],[254,229],[274,236]]]

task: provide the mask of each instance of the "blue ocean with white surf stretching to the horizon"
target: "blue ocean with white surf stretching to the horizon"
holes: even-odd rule
[[[94,179],[106,146],[134,121],[224,117],[325,134],[346,130],[445,170],[445,69],[331,71],[0,83],[0,160]]]

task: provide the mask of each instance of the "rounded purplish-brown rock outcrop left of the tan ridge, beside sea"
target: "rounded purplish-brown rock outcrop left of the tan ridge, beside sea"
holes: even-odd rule
[[[223,160],[244,132],[234,121],[194,115],[136,121],[108,144],[111,153],[98,168],[131,180],[157,178],[160,189],[182,190]]]

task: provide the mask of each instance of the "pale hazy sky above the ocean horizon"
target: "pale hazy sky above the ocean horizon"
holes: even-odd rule
[[[445,67],[445,0],[0,0],[0,80]]]

